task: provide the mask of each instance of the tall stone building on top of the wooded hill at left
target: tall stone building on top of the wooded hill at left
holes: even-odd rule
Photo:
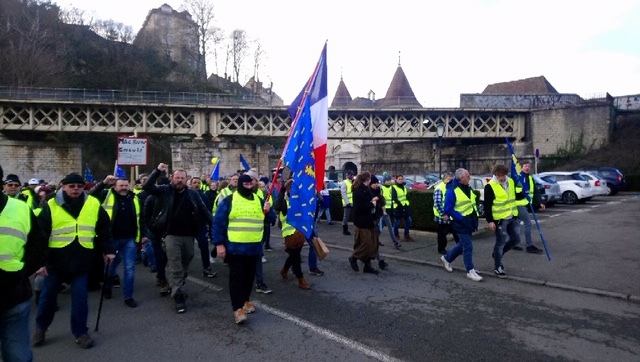
[[[206,71],[198,39],[198,26],[191,14],[165,3],[149,11],[133,43],[157,50],[171,60],[174,67],[168,81],[204,81]]]

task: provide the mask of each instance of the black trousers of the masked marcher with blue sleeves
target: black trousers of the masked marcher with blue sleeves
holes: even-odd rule
[[[256,263],[259,255],[234,255],[227,254],[226,261],[229,265],[229,292],[231,294],[231,307],[234,311],[242,308],[244,302],[249,301],[253,289],[253,279],[256,276]]]

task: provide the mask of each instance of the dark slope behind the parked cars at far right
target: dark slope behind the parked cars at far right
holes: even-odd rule
[[[569,159],[542,158],[541,171],[610,166],[624,175],[640,175],[640,114],[618,116],[611,143]]]

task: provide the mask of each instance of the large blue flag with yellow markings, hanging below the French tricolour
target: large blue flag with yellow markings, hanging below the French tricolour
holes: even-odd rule
[[[287,223],[309,239],[313,232],[316,212],[313,126],[309,98],[304,102],[302,112],[293,127],[282,157],[285,166],[293,172]]]

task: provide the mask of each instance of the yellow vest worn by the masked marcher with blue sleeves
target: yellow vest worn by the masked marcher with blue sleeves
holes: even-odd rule
[[[254,195],[247,200],[234,192],[231,196],[231,212],[227,236],[232,243],[259,243],[264,233],[264,213],[261,199]]]

